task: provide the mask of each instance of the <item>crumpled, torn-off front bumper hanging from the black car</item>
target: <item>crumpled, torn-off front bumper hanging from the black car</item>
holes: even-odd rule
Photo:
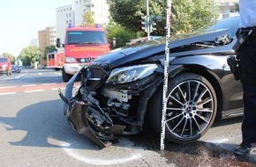
[[[100,148],[105,148],[111,145],[109,140],[116,139],[116,134],[124,134],[125,126],[107,124],[106,122],[111,122],[111,120],[109,121],[109,117],[102,113],[101,108],[96,110],[88,105],[92,105],[89,97],[88,102],[78,101],[76,97],[72,98],[73,84],[83,69],[72,76],[66,85],[64,95],[59,91],[59,96],[64,101],[64,115],[76,132],[87,136]]]

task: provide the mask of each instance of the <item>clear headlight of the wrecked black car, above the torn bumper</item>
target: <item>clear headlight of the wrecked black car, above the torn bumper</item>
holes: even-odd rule
[[[114,69],[107,79],[106,83],[125,84],[144,77],[150,76],[157,68],[156,64],[142,64]]]

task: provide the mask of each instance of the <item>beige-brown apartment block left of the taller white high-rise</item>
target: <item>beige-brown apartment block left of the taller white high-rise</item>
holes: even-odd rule
[[[38,43],[41,54],[44,54],[44,48],[50,45],[56,45],[56,25],[48,26],[45,30],[38,31]],[[46,61],[40,58],[40,64],[46,64]]]

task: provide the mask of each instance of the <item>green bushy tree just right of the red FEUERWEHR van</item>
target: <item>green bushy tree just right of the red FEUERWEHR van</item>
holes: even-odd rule
[[[136,33],[132,33],[131,31],[125,29],[125,27],[122,25],[108,25],[107,32],[109,43],[113,38],[116,38],[116,47],[124,47],[125,43],[138,37]]]

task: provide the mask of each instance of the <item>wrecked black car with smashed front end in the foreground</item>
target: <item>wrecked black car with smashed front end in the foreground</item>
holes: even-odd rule
[[[225,18],[169,43],[166,139],[198,140],[215,119],[243,115],[243,91],[227,57],[235,55],[239,17]],[[121,134],[139,134],[146,122],[162,127],[165,38],[118,48],[82,68],[66,86],[64,115],[99,146]],[[72,96],[72,85],[81,79]]]

